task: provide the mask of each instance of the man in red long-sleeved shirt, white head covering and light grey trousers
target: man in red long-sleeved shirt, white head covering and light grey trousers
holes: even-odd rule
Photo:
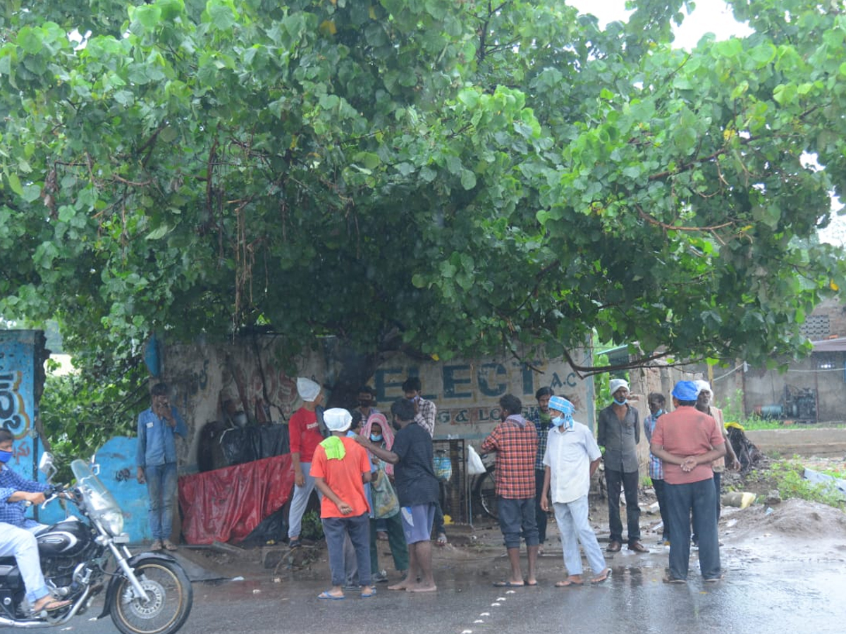
[[[291,445],[291,462],[294,463],[294,495],[288,510],[288,545],[299,548],[299,531],[302,528],[303,513],[309,504],[311,492],[315,489],[315,478],[310,475],[311,456],[323,440],[317,423],[317,406],[323,400],[320,385],[315,381],[299,377],[297,393],[303,400],[303,407],[288,418],[288,439]]]

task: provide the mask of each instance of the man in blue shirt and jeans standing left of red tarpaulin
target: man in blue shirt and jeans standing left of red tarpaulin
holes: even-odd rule
[[[138,415],[138,482],[147,484],[150,495],[151,549],[176,550],[170,541],[173,530],[173,499],[176,496],[176,440],[188,429],[168,398],[168,385],[157,383],[151,391],[152,407]]]

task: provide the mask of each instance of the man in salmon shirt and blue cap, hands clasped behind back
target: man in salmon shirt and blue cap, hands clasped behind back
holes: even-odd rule
[[[696,409],[693,381],[673,387],[676,409],[658,418],[650,451],[664,463],[667,515],[670,519],[670,569],[664,582],[687,581],[690,513],[696,513],[699,567],[706,582],[722,579],[717,538],[717,505],[711,462],[726,455],[717,421]]]

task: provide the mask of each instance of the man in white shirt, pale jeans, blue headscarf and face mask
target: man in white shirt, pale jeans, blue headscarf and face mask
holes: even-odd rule
[[[567,566],[568,574],[567,579],[555,586],[572,588],[585,584],[581,577],[579,543],[585,549],[585,557],[596,575],[591,583],[601,583],[608,578],[611,570],[605,566],[605,557],[588,520],[587,495],[591,490],[591,476],[602,460],[602,452],[591,430],[573,420],[573,403],[562,396],[552,396],[549,411],[552,413],[552,429],[549,430],[547,451],[543,456],[546,473],[541,508],[549,510],[548,495],[552,494],[552,509],[561,533],[564,566]]]

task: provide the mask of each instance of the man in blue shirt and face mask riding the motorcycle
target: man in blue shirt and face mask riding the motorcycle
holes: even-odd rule
[[[25,516],[25,502],[41,504],[45,484],[22,478],[6,463],[12,458],[14,436],[0,429],[0,557],[14,556],[26,587],[26,598],[33,615],[54,612],[71,604],[53,598],[41,573],[35,533],[42,524]]]

